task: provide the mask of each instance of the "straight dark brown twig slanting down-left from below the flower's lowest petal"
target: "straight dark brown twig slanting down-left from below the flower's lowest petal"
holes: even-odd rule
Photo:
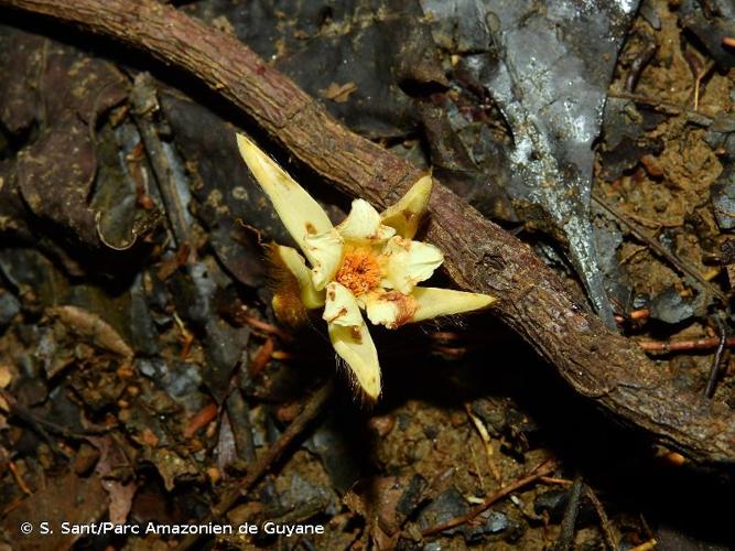
[[[275,461],[291,446],[293,441],[306,429],[306,426],[320,414],[322,408],[326,404],[332,390],[333,382],[329,380],[318,390],[316,390],[310,398],[301,413],[296,415],[293,422],[283,431],[283,434],[273,442],[258,462],[252,465],[248,474],[240,480],[237,488],[228,491],[221,498],[219,504],[212,510],[209,519],[221,518],[240,497],[245,496],[248,490],[273,466]],[[191,549],[201,540],[201,534],[187,536],[182,540],[176,549]]]

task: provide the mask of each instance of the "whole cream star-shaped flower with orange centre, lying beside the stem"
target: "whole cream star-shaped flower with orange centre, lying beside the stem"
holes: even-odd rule
[[[237,134],[237,144],[303,257],[281,245],[273,246],[274,255],[295,279],[303,306],[324,307],[335,352],[371,400],[380,395],[380,366],[360,310],[371,323],[396,328],[495,301],[486,294],[418,287],[444,260],[433,245],[413,240],[429,204],[431,175],[383,213],[355,199],[349,215],[333,226],[316,201],[252,141]],[[277,314],[285,302],[277,292]]]

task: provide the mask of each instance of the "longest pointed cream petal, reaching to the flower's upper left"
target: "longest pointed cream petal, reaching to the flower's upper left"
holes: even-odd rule
[[[250,139],[237,134],[240,155],[252,172],[279,218],[304,251],[306,236],[324,234],[332,223],[324,209],[275,161],[268,156]]]

